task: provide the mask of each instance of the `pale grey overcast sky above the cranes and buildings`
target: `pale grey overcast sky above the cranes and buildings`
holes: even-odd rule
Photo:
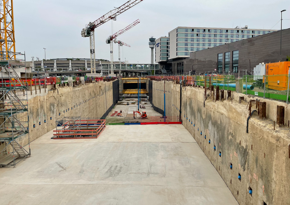
[[[97,20],[126,0],[28,0],[14,1],[16,52],[44,58],[90,58],[89,38],[81,36],[85,24]],[[253,29],[280,29],[283,19],[290,19],[289,0],[143,0],[120,14],[113,22],[114,33],[137,19],[140,23],[119,36],[131,47],[121,47],[121,60],[150,63],[149,37],[168,36],[178,26],[224,27],[249,26]],[[279,22],[279,23],[278,23]],[[278,24],[277,24],[278,23]],[[276,26],[274,26],[276,24]],[[283,21],[283,29],[290,20]],[[96,58],[110,60],[111,22],[95,30]],[[124,53],[122,52],[124,50]],[[114,44],[114,61],[118,61],[118,45]]]

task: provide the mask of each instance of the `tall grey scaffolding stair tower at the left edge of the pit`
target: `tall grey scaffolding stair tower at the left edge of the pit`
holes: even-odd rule
[[[31,156],[25,54],[0,53],[0,167],[15,167]]]

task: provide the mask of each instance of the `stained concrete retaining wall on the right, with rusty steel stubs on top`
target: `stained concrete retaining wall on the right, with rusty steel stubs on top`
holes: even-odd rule
[[[163,90],[164,81],[153,81],[152,103],[162,110]],[[166,116],[179,116],[180,85],[166,81],[165,91]],[[210,96],[205,101],[203,89],[183,87],[182,124],[195,138],[238,203],[289,204],[289,128],[288,125],[284,128],[276,126],[274,131],[273,120],[276,121],[277,105],[283,105],[285,125],[288,124],[290,106],[259,98],[267,103],[268,118],[261,120],[254,114],[249,121],[247,134],[247,103],[250,97],[238,93],[233,95],[232,102],[213,102]],[[239,96],[244,96],[245,102],[239,104]],[[252,107],[254,109],[255,105]],[[252,195],[249,194],[250,188],[253,190]]]

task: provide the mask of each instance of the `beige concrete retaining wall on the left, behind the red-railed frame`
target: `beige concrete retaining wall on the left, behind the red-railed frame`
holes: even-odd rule
[[[117,85],[114,89],[113,84]],[[54,91],[47,89],[46,92],[42,88],[41,93],[40,90],[37,90],[37,93],[33,90],[32,95],[28,91],[30,141],[55,128],[56,120],[62,117],[80,116],[97,119],[105,117],[117,103],[116,100],[113,101],[113,90],[118,98],[118,80],[100,81],[76,87],[60,87]],[[20,137],[18,142],[21,145],[27,144],[28,136]],[[0,145],[1,150],[5,147],[3,146],[4,144]]]

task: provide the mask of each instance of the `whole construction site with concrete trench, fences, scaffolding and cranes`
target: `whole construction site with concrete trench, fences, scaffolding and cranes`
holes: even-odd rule
[[[0,204],[290,204],[290,64],[279,62],[288,74],[278,76],[267,65],[259,77],[162,76],[139,65],[126,75],[112,45],[120,61],[127,44],[116,37],[137,20],[108,37],[111,62],[98,73],[95,29],[142,1],[82,30],[84,77],[34,78],[5,20]]]

